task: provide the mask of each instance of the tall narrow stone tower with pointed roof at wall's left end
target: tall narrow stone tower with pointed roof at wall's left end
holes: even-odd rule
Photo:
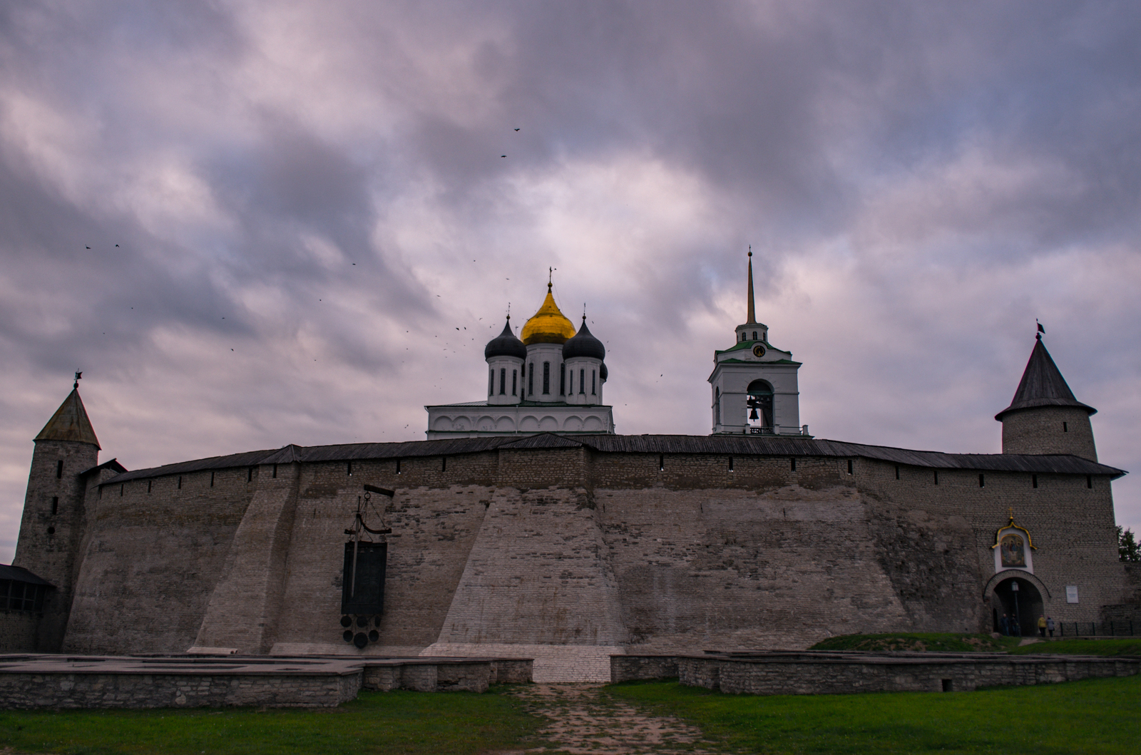
[[[96,468],[99,440],[79,396],[79,373],[71,393],[34,439],[24,513],[13,566],[49,582],[38,631],[38,650],[54,652],[63,642],[71,611],[76,553],[83,535],[84,472]]]

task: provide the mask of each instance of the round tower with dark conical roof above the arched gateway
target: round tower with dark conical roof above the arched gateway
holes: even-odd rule
[[[1014,398],[995,415],[1002,422],[1002,453],[1073,454],[1095,462],[1090,415],[1097,412],[1074,397],[1038,333]]]

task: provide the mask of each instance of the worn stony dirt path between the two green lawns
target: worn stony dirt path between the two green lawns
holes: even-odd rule
[[[539,736],[548,744],[527,753],[711,755],[701,730],[658,717],[599,693],[600,684],[528,684],[513,692],[532,713],[551,723]],[[507,754],[504,754],[507,755]],[[520,754],[521,755],[521,754]]]

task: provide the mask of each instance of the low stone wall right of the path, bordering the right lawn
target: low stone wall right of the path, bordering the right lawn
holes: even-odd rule
[[[677,672],[670,674],[670,661]],[[682,684],[748,695],[966,691],[1141,673],[1141,658],[934,652],[758,652],[615,656],[613,680],[677,675]]]

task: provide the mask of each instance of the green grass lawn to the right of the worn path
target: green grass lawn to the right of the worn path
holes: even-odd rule
[[[1141,676],[947,693],[763,697],[677,682],[628,682],[607,693],[689,721],[726,752],[1141,752]]]

